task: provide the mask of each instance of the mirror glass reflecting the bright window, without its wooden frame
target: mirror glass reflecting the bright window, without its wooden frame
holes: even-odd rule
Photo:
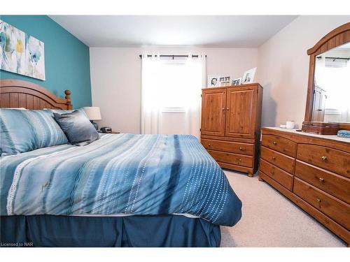
[[[316,56],[312,121],[350,122],[350,43]]]

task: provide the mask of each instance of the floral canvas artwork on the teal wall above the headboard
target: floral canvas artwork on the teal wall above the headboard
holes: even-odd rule
[[[45,80],[44,43],[0,20],[0,69]]]

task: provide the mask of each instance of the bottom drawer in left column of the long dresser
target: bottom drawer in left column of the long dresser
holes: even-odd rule
[[[286,187],[286,189],[292,191],[293,175],[290,175],[286,171],[281,170],[281,168],[277,168],[263,159],[260,159],[260,171],[271,177],[276,182],[279,182],[279,184]]]

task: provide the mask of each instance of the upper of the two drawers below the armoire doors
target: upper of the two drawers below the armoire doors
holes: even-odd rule
[[[221,140],[211,140],[211,139],[202,139],[202,145],[207,150],[218,150],[223,152],[237,153],[237,154],[246,154],[248,156],[253,156],[254,145],[247,143],[237,143]]]

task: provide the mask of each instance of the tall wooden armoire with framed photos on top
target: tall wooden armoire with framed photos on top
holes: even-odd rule
[[[261,104],[258,83],[202,89],[201,143],[222,168],[258,169]]]

